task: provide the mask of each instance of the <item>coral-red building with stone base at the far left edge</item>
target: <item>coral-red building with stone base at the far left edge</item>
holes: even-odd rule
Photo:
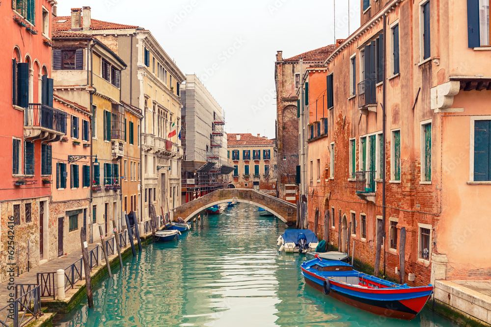
[[[11,1],[1,9],[5,33],[0,67],[7,78],[0,97],[1,159],[5,164],[0,178],[0,281],[7,279],[7,264],[15,264],[22,273],[27,265],[36,267],[48,255],[40,228],[48,224],[51,192],[42,179],[52,176],[49,146],[66,131],[65,113],[53,107],[50,78],[54,2],[36,0],[28,5],[27,1]],[[10,258],[8,241],[15,246]]]

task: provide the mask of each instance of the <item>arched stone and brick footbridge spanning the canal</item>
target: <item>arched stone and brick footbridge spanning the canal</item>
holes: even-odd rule
[[[297,207],[294,204],[256,190],[240,188],[216,190],[185,203],[174,209],[174,219],[182,217],[185,221],[189,221],[206,208],[223,202],[232,202],[234,198],[238,202],[264,208],[288,225],[295,225],[297,221]]]

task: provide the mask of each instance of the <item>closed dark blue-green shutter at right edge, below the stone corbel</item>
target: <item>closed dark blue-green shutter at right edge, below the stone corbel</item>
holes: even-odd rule
[[[491,121],[474,122],[474,181],[489,181]]]

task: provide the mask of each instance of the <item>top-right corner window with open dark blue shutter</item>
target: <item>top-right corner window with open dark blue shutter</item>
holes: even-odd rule
[[[490,0],[467,1],[469,48],[490,45]]]

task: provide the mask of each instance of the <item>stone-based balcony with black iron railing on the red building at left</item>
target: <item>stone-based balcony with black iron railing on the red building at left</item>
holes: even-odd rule
[[[24,137],[50,143],[66,134],[67,114],[46,104],[29,103],[24,110]]]

